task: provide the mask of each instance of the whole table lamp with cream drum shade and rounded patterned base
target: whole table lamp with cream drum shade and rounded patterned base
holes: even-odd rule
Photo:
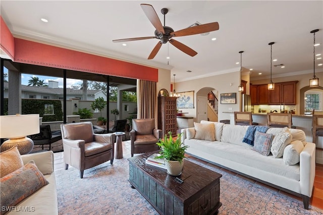
[[[38,133],[39,114],[0,116],[0,138],[8,138],[1,145],[1,151],[17,145],[20,154],[28,154],[34,142],[26,136]]]

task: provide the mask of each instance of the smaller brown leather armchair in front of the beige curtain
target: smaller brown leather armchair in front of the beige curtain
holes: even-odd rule
[[[156,142],[161,135],[162,131],[155,129],[154,119],[133,119],[130,131],[131,156],[158,150]]]

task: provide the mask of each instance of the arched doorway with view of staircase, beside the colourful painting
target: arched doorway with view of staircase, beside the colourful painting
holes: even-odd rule
[[[213,87],[203,87],[196,92],[196,121],[210,120],[218,121],[218,103],[214,104],[214,108],[208,104],[208,93],[212,92],[218,99],[218,90]]]

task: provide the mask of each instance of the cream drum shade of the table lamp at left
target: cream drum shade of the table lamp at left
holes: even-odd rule
[[[39,114],[0,116],[0,138],[39,133]]]

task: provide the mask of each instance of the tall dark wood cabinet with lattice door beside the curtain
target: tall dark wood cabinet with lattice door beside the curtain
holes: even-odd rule
[[[163,138],[168,132],[177,135],[177,97],[158,96],[158,129],[163,130]]]

